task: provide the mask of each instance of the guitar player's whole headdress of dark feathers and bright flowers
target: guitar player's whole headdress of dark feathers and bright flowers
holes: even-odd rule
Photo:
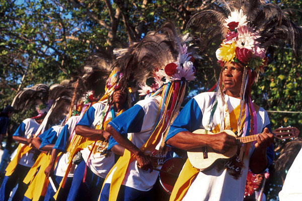
[[[223,39],[216,52],[220,63],[237,60],[261,70],[265,53],[272,54],[276,44],[291,45],[299,55],[302,28],[288,18],[288,9],[260,0],[213,2],[210,9],[196,13],[188,26],[204,30],[205,42]]]

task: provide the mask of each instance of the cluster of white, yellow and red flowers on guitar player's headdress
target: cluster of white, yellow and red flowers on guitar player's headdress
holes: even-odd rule
[[[220,66],[229,61],[240,62],[257,73],[264,73],[264,66],[267,65],[265,49],[260,47],[257,41],[260,35],[249,27],[247,16],[243,15],[242,10],[232,12],[223,26],[228,28],[228,32],[216,50]]]

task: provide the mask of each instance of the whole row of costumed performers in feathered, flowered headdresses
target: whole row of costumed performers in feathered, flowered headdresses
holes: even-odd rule
[[[13,135],[20,144],[0,200],[8,200],[17,183],[13,200],[155,200],[163,162],[177,150],[202,154],[184,157],[170,200],[250,200],[256,192],[252,199],[263,199],[261,173],[274,159],[274,138],[266,111],[252,102],[251,86],[267,65],[269,45],[282,41],[297,50],[302,30],[277,5],[231,1],[215,8],[190,23],[212,26],[208,37],[223,37],[216,51],[219,80],[214,92],[196,95],[181,110],[198,56],[191,37],[172,23],[116,50],[112,60],[93,56],[77,81],[20,91],[14,107],[35,103],[39,115],[25,119]],[[95,99],[87,91],[97,90],[104,81],[98,75],[106,73],[105,92]],[[141,100],[134,104],[135,93]],[[238,143],[252,135],[254,143]],[[206,166],[199,161],[234,148],[226,159]],[[258,186],[245,194],[249,170],[262,179],[254,179]],[[286,200],[290,191],[282,191]]]

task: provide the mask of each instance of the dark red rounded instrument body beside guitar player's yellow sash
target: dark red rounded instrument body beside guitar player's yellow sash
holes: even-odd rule
[[[166,192],[171,194],[185,160],[179,157],[166,160],[160,171],[160,182]]]

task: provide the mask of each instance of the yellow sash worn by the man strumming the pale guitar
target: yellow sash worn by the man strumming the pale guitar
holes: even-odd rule
[[[230,113],[230,126],[231,128],[237,128],[237,120],[240,113],[240,105],[237,106],[231,113]],[[244,121],[243,121],[244,123]],[[234,131],[234,130],[233,130]],[[213,131],[213,133],[220,132],[220,125],[217,125]],[[235,131],[234,131],[235,132]],[[187,159],[180,175],[177,178],[177,181],[174,185],[172,190],[170,200],[182,200],[186,192],[188,191],[192,181],[198,174],[198,170],[192,166],[189,159]]]

